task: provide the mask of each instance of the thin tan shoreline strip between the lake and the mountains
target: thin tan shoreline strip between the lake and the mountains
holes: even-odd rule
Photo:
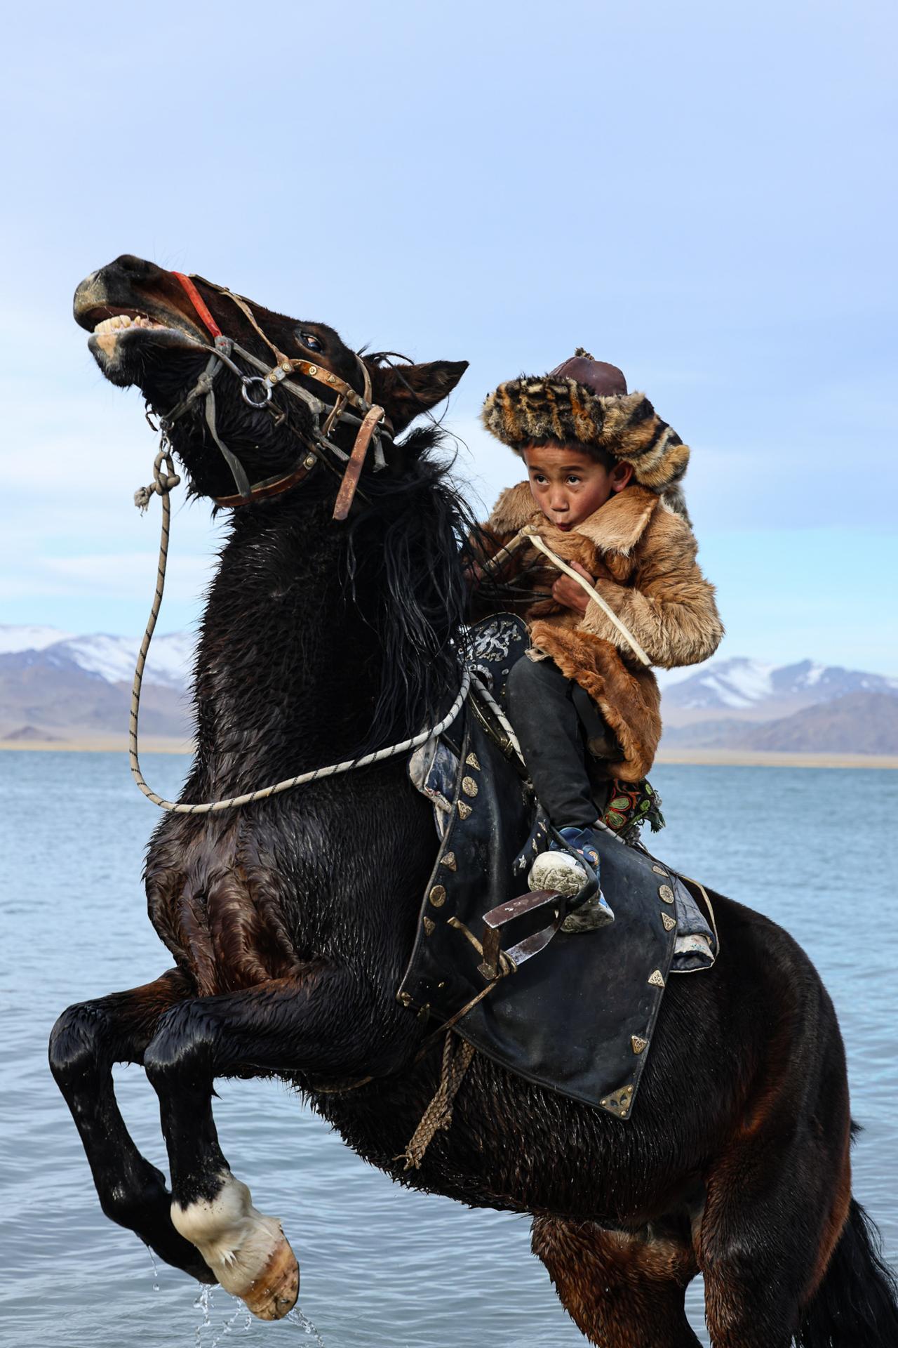
[[[144,754],[193,754],[190,740],[163,739],[148,735],[141,739]],[[0,740],[0,749],[23,752],[77,752],[127,754],[128,743],[114,735],[78,736],[71,740]],[[898,768],[897,754],[796,754],[767,749],[691,749],[662,748],[658,764],[691,764],[693,767],[827,767],[827,768]]]

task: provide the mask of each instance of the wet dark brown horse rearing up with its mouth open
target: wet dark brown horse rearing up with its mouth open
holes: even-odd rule
[[[245,313],[198,284],[218,326],[268,367]],[[252,311],[283,353],[316,360],[364,392],[359,360],[330,328]],[[116,315],[129,325],[112,325]],[[106,377],[136,384],[156,412],[175,407],[206,367],[201,311],[151,263],[125,256],[96,272],[77,293],[75,317],[90,332],[101,326],[90,345]],[[464,365],[368,356],[365,367],[397,439],[385,469],[362,473],[364,497],[346,523],[331,519],[338,484],[323,468],[230,518],[197,656],[184,801],[392,743],[456,692],[464,512],[434,454],[436,433],[399,437]],[[322,392],[306,375],[296,381]],[[295,468],[311,431],[302,399],[279,390],[269,407],[252,407],[228,369],[215,398],[218,435],[250,481]],[[194,492],[233,495],[202,406],[175,422],[174,446]],[[345,450],[354,435],[343,422],[333,431]],[[723,898],[718,964],[670,981],[631,1120],[478,1054],[451,1128],[436,1134],[420,1170],[403,1169],[396,1158],[439,1080],[438,1051],[416,1061],[425,1027],[396,1002],[434,859],[429,806],[401,759],[245,809],[163,818],[145,879],[174,968],[71,1007],[51,1041],[108,1216],[258,1314],[283,1314],[296,1295],[289,1246],[230,1174],[210,1104],[217,1077],[276,1073],[401,1182],[533,1213],[533,1250],[594,1344],[695,1345],[684,1290],[700,1270],[716,1348],[793,1339],[894,1348],[894,1283],[851,1197],[832,1004],[785,931]],[[110,1069],[123,1061],[143,1064],[159,1095],[171,1193],[118,1113]],[[323,1089],[362,1076],[374,1080]]]

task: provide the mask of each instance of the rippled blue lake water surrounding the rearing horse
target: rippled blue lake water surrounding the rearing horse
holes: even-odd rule
[[[147,754],[144,767],[172,794],[187,760]],[[887,838],[898,774],[670,766],[653,782],[668,817],[654,851],[782,923],[820,969],[864,1127],[855,1194],[894,1259],[898,921]],[[275,1082],[221,1084],[215,1117],[236,1174],[281,1217],[299,1256],[300,1310],[289,1320],[250,1321],[221,1289],[198,1298],[198,1285],[167,1266],[153,1271],[145,1247],[106,1221],[46,1042],[69,1003],[167,967],[140,886],[156,817],[124,755],[0,754],[0,1344],[583,1344],[529,1254],[525,1219],[399,1189]],[[164,1170],[143,1072],[118,1069],[117,1085],[139,1146]],[[688,1306],[707,1343],[700,1282]]]

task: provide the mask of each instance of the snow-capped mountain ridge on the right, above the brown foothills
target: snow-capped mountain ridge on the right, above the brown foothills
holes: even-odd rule
[[[898,694],[898,678],[815,661],[777,666],[736,656],[708,661],[695,671],[672,670],[661,675],[661,687],[668,716],[673,709],[778,716],[848,693]]]

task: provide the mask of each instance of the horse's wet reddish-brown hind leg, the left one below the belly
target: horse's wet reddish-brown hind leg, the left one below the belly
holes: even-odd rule
[[[688,1232],[638,1235],[534,1217],[533,1254],[578,1329],[602,1348],[696,1348],[685,1289],[697,1273]]]

